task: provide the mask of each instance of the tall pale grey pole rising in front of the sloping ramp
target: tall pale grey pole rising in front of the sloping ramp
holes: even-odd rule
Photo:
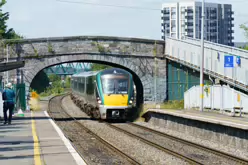
[[[200,70],[200,88],[201,88],[201,105],[200,105],[200,111],[203,111],[203,92],[204,92],[204,80],[203,80],[203,74],[204,74],[204,17],[205,17],[205,2],[202,0],[202,24],[201,24],[201,70]]]

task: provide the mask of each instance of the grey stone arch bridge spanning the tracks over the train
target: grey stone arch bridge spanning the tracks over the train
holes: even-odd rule
[[[5,44],[11,60],[25,60],[21,70],[26,92],[37,73],[47,67],[69,62],[95,62],[131,72],[140,103],[155,99],[162,102],[167,96],[165,45],[161,40],[75,36],[6,40]]]

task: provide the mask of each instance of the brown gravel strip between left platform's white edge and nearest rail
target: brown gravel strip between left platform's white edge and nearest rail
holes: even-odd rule
[[[113,153],[75,121],[68,118],[68,115],[60,109],[60,97],[54,99],[57,100],[51,103],[49,114],[55,118],[57,125],[62,128],[64,134],[71,140],[87,164],[130,164],[125,158]]]

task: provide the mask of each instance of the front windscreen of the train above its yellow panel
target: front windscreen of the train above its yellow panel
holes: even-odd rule
[[[102,78],[102,86],[105,94],[127,94],[128,78]]]

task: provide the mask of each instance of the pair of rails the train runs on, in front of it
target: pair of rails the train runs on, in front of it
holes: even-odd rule
[[[138,135],[135,135],[134,133],[131,133],[130,131],[127,131],[125,129],[122,129],[118,126],[115,126],[113,124],[110,124],[110,123],[106,123],[108,126],[110,126],[111,128],[115,129],[115,130],[118,130],[120,132],[123,132],[129,136],[132,136],[136,139],[139,139],[141,141],[143,141],[144,143],[147,143],[149,145],[152,145],[164,152],[167,152],[173,156],[176,156],[178,158],[181,158],[191,164],[204,164],[202,161],[199,161],[199,158],[198,160],[195,159],[195,158],[192,158],[192,157],[189,157],[189,156],[184,156],[183,154],[180,154],[176,151],[173,151],[171,149],[168,149],[168,148],[165,148],[161,145],[158,145],[150,140],[147,140],[143,137],[140,137]],[[168,139],[171,139],[173,141],[176,141],[178,143],[181,143],[183,145],[187,145],[187,146],[190,146],[190,147],[194,147],[194,148],[197,148],[197,149],[200,149],[202,151],[205,151],[207,153],[211,153],[211,154],[214,154],[214,155],[218,155],[219,157],[222,157],[224,159],[226,159],[228,162],[229,161],[232,161],[232,162],[236,162],[235,164],[244,164],[244,165],[248,165],[248,160],[245,160],[245,159],[242,159],[242,158],[239,158],[239,157],[236,157],[234,155],[230,155],[228,153],[224,153],[224,152],[221,152],[221,151],[218,151],[218,150],[215,150],[215,149],[212,149],[212,148],[208,148],[208,147],[205,147],[205,146],[201,146],[199,144],[196,144],[196,143],[192,143],[190,141],[186,141],[186,140],[183,140],[183,139],[180,139],[178,137],[174,137],[174,136],[171,136],[171,135],[168,135],[166,133],[162,133],[162,132],[159,132],[159,131],[156,131],[156,130],[153,130],[153,129],[150,129],[150,128],[147,128],[147,127],[144,127],[144,126],[141,126],[141,125],[138,125],[138,124],[135,124],[135,123],[128,123],[128,125],[131,125],[131,126],[134,126],[136,128],[139,128],[139,129],[142,129],[142,130],[145,130],[147,132],[150,132],[150,133],[153,133],[153,134],[156,134],[156,135],[159,135],[159,136],[162,136],[162,137],[165,137],[165,138],[168,138]]]

